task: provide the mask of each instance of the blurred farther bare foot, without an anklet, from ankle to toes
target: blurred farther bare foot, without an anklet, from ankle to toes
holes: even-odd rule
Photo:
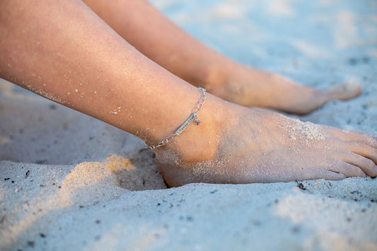
[[[224,67],[219,78],[208,81],[207,90],[231,103],[306,114],[330,100],[349,100],[360,95],[356,83],[344,83],[330,91],[300,86],[288,78],[237,63]]]

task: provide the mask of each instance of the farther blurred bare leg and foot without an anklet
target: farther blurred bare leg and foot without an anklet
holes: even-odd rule
[[[359,87],[318,91],[276,74],[243,66],[203,45],[146,0],[84,0],[125,40],[176,76],[244,106],[305,114],[327,101],[354,98]],[[346,86],[347,87],[347,86]]]

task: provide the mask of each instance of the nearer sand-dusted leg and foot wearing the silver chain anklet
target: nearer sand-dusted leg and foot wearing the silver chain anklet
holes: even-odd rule
[[[2,1],[0,76],[157,144],[189,117],[197,88],[151,62],[81,1]],[[25,49],[27,48],[27,49]],[[170,185],[377,175],[377,141],[224,102],[158,148]]]

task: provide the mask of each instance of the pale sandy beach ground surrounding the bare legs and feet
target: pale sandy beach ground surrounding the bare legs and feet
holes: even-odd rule
[[[298,118],[377,135],[376,1],[152,2],[238,62],[357,81]],[[0,81],[0,250],[377,250],[377,180],[168,189],[136,137]]]

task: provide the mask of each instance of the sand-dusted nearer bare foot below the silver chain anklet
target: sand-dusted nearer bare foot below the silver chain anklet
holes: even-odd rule
[[[210,96],[202,124],[158,148],[170,186],[377,176],[377,140]]]

